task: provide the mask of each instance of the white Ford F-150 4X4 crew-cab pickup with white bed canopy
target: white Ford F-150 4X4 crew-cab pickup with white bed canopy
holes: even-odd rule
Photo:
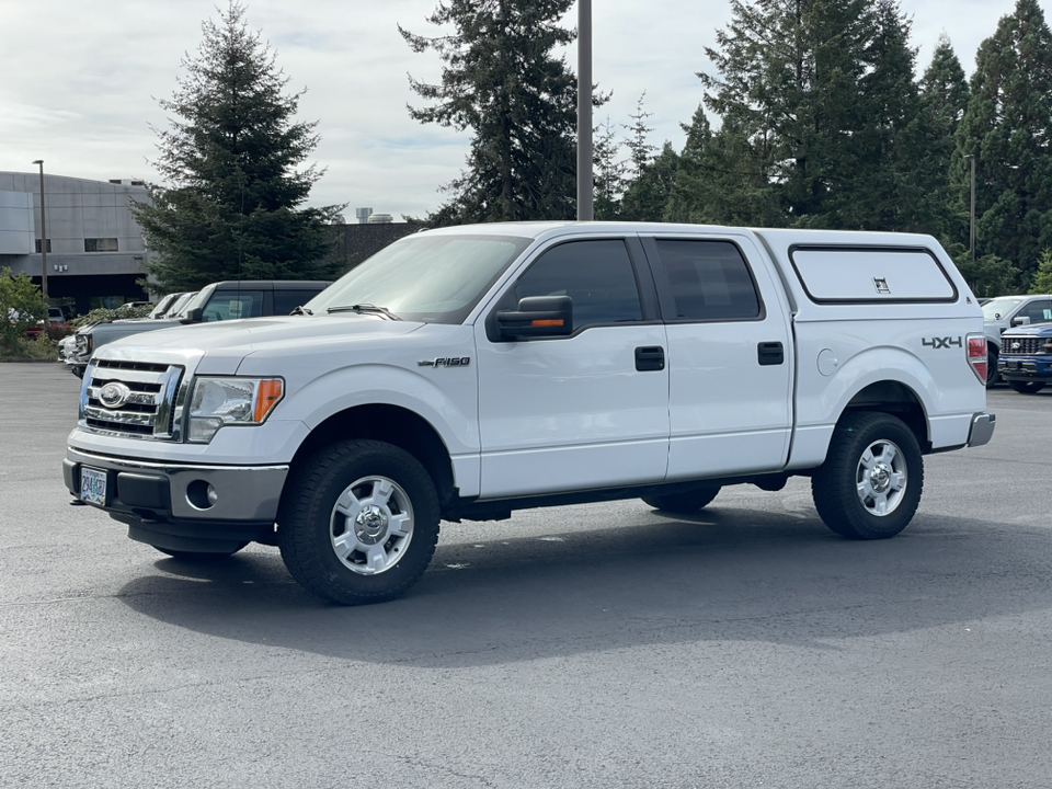
[[[923,456],[990,441],[983,317],[931,238],[494,224],[397,241],[299,315],[99,348],[66,484],[183,559],[277,545],[395,597],[441,519],[811,478],[837,534],[901,531]]]

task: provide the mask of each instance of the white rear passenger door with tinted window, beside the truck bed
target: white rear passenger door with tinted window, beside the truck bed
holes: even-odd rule
[[[792,343],[779,284],[746,236],[643,239],[668,338],[668,480],[785,466]]]

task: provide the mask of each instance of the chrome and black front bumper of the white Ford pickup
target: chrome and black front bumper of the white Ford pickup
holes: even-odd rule
[[[132,537],[180,550],[193,550],[186,547],[186,540],[250,541],[272,534],[288,476],[287,465],[149,462],[68,447],[62,477],[66,488],[78,500],[84,466],[105,473],[106,496],[100,508],[132,526]],[[214,500],[206,494],[209,487]],[[171,540],[137,536],[136,529],[184,539],[172,545]]]

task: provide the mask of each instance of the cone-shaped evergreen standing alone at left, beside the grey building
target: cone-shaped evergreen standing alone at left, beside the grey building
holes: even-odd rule
[[[231,0],[220,22],[202,25],[197,56],[183,60],[173,117],[158,132],[153,162],[162,184],[152,204],[133,211],[151,255],[148,272],[162,293],[218,279],[312,279],[335,272],[325,225],[342,208],[302,208],[322,172],[296,170],[318,144],[316,123],[294,121],[302,93],[288,83],[276,56],[250,33]]]

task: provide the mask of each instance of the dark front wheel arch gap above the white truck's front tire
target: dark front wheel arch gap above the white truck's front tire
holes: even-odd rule
[[[456,498],[453,460],[434,426],[401,405],[370,403],[339,411],[318,424],[293,457],[293,469],[319,449],[350,438],[380,441],[404,449],[424,467],[446,506]]]

